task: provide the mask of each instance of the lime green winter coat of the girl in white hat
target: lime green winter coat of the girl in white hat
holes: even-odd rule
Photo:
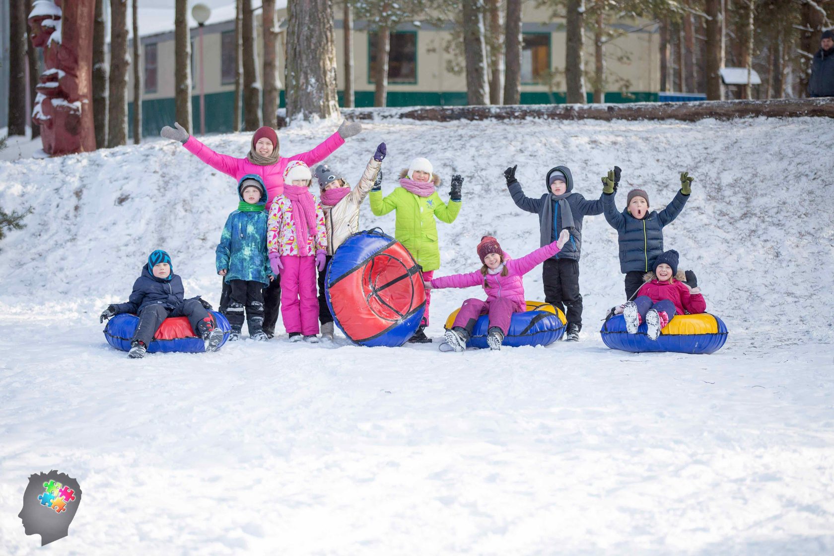
[[[440,179],[435,176],[435,186]],[[409,250],[423,270],[440,268],[440,247],[437,244],[435,216],[446,224],[455,221],[460,213],[460,201],[449,201],[446,205],[437,191],[428,197],[414,195],[402,187],[396,188],[383,198],[382,191],[371,191],[370,210],[374,215],[387,215],[397,211],[394,237]]]

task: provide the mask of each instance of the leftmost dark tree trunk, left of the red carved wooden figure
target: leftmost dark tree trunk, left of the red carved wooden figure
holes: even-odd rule
[[[26,46],[28,31],[26,3],[24,0],[10,0],[8,4],[8,135],[25,135],[29,114],[26,114],[26,95],[19,91],[26,89]],[[15,94],[12,94],[13,91]]]

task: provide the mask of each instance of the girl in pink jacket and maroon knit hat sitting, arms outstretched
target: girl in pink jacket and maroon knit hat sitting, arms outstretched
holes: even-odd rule
[[[480,270],[426,281],[428,289],[483,286],[486,291],[486,301],[475,298],[464,301],[455,317],[455,323],[445,333],[446,343],[455,351],[464,351],[478,317],[489,314],[486,343],[491,350],[500,350],[501,342],[510,329],[513,313],[525,310],[524,275],[558,253],[568,240],[568,230],[562,230],[559,239],[550,245],[540,247],[520,259],[506,260],[498,240],[485,235],[478,244],[478,256],[484,264]]]

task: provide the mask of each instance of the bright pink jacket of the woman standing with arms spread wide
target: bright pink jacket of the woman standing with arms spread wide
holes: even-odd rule
[[[271,166],[260,166],[249,162],[249,159],[236,159],[234,156],[228,154],[215,153],[214,150],[209,149],[204,144],[200,143],[194,136],[188,138],[188,141],[183,145],[188,152],[197,156],[198,159],[208,164],[212,168],[230,175],[239,182],[246,174],[258,174],[261,179],[264,179],[266,185],[267,201],[266,210],[272,205],[272,200],[284,193],[284,169],[289,164],[290,160],[301,160],[304,164],[312,167],[322,160],[326,159],[334,150],[339,149],[344,144],[344,139],[339,133],[330,135],[324,139],[324,143],[319,144],[313,150],[306,153],[294,154],[289,158],[279,157],[278,162]]]

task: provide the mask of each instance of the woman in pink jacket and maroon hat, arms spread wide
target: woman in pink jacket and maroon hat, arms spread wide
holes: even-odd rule
[[[204,144],[194,139],[188,131],[178,123],[173,124],[174,128],[165,126],[160,134],[166,139],[175,139],[188,149],[188,152],[197,156],[198,159],[212,168],[228,174],[235,179],[237,184],[246,174],[258,174],[264,180],[267,191],[266,210],[272,206],[272,200],[284,193],[284,169],[292,160],[301,160],[304,164],[318,164],[326,159],[334,150],[344,144],[344,139],[353,137],[362,131],[362,125],[356,122],[342,122],[336,133],[330,135],[324,142],[306,153],[294,154],[290,157],[283,157],[279,154],[278,134],[275,130],[264,126],[255,131],[252,137],[249,154],[243,159],[229,156],[228,154],[215,153]],[[220,309],[228,304],[229,286],[224,282],[223,293],[220,295]],[[224,302],[225,300],[225,302]],[[278,312],[281,303],[281,285],[276,279],[264,291],[264,332],[270,338],[275,334],[275,323],[278,321]]]

